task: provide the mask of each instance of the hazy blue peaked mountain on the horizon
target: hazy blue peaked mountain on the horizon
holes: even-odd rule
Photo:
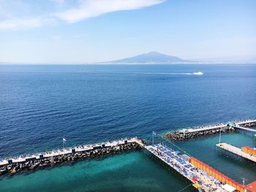
[[[118,64],[181,64],[181,63],[192,63],[182,58],[178,58],[172,55],[165,55],[158,52],[150,52],[141,55],[136,55],[130,58],[123,58],[109,63]]]

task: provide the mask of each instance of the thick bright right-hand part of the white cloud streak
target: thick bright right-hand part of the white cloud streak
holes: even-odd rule
[[[68,9],[56,14],[57,18],[75,23],[87,18],[96,17],[107,12],[140,9],[162,3],[163,0],[86,0],[80,1],[77,8]]]

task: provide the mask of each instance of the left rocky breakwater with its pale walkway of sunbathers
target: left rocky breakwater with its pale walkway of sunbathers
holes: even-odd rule
[[[113,142],[81,145],[62,150],[52,150],[33,155],[20,155],[19,157],[0,159],[0,175],[42,169],[48,166],[72,163],[86,158],[96,158],[122,151],[138,150],[143,143],[143,140],[134,137]]]

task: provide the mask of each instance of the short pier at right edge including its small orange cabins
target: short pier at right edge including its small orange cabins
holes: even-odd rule
[[[256,150],[251,147],[238,148],[225,142],[218,143],[216,147],[222,153],[229,153],[256,163]]]

